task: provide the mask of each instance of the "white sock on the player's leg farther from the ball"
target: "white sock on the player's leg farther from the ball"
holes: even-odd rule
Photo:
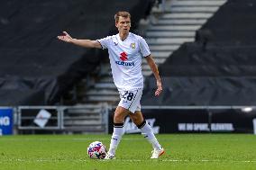
[[[156,139],[153,130],[147,121],[143,121],[138,128],[142,130],[142,135],[151,143],[153,148],[161,149],[160,143],[158,139]]]

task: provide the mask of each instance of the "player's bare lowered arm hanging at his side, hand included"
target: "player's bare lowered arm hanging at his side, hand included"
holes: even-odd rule
[[[157,90],[155,92],[155,96],[159,96],[162,92],[162,86],[161,86],[161,80],[160,80],[160,75],[159,75],[159,69],[154,61],[153,58],[151,58],[151,55],[146,57],[148,65],[151,67],[151,70],[157,80]]]

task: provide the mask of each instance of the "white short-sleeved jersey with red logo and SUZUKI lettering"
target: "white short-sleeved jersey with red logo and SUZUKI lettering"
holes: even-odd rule
[[[114,85],[118,90],[143,88],[142,58],[151,54],[148,44],[139,35],[129,32],[125,40],[119,34],[97,40],[108,49]]]

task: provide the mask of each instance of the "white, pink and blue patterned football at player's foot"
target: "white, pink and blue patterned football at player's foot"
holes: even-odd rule
[[[100,141],[92,142],[87,148],[87,155],[93,159],[104,159],[106,152],[105,145]]]

